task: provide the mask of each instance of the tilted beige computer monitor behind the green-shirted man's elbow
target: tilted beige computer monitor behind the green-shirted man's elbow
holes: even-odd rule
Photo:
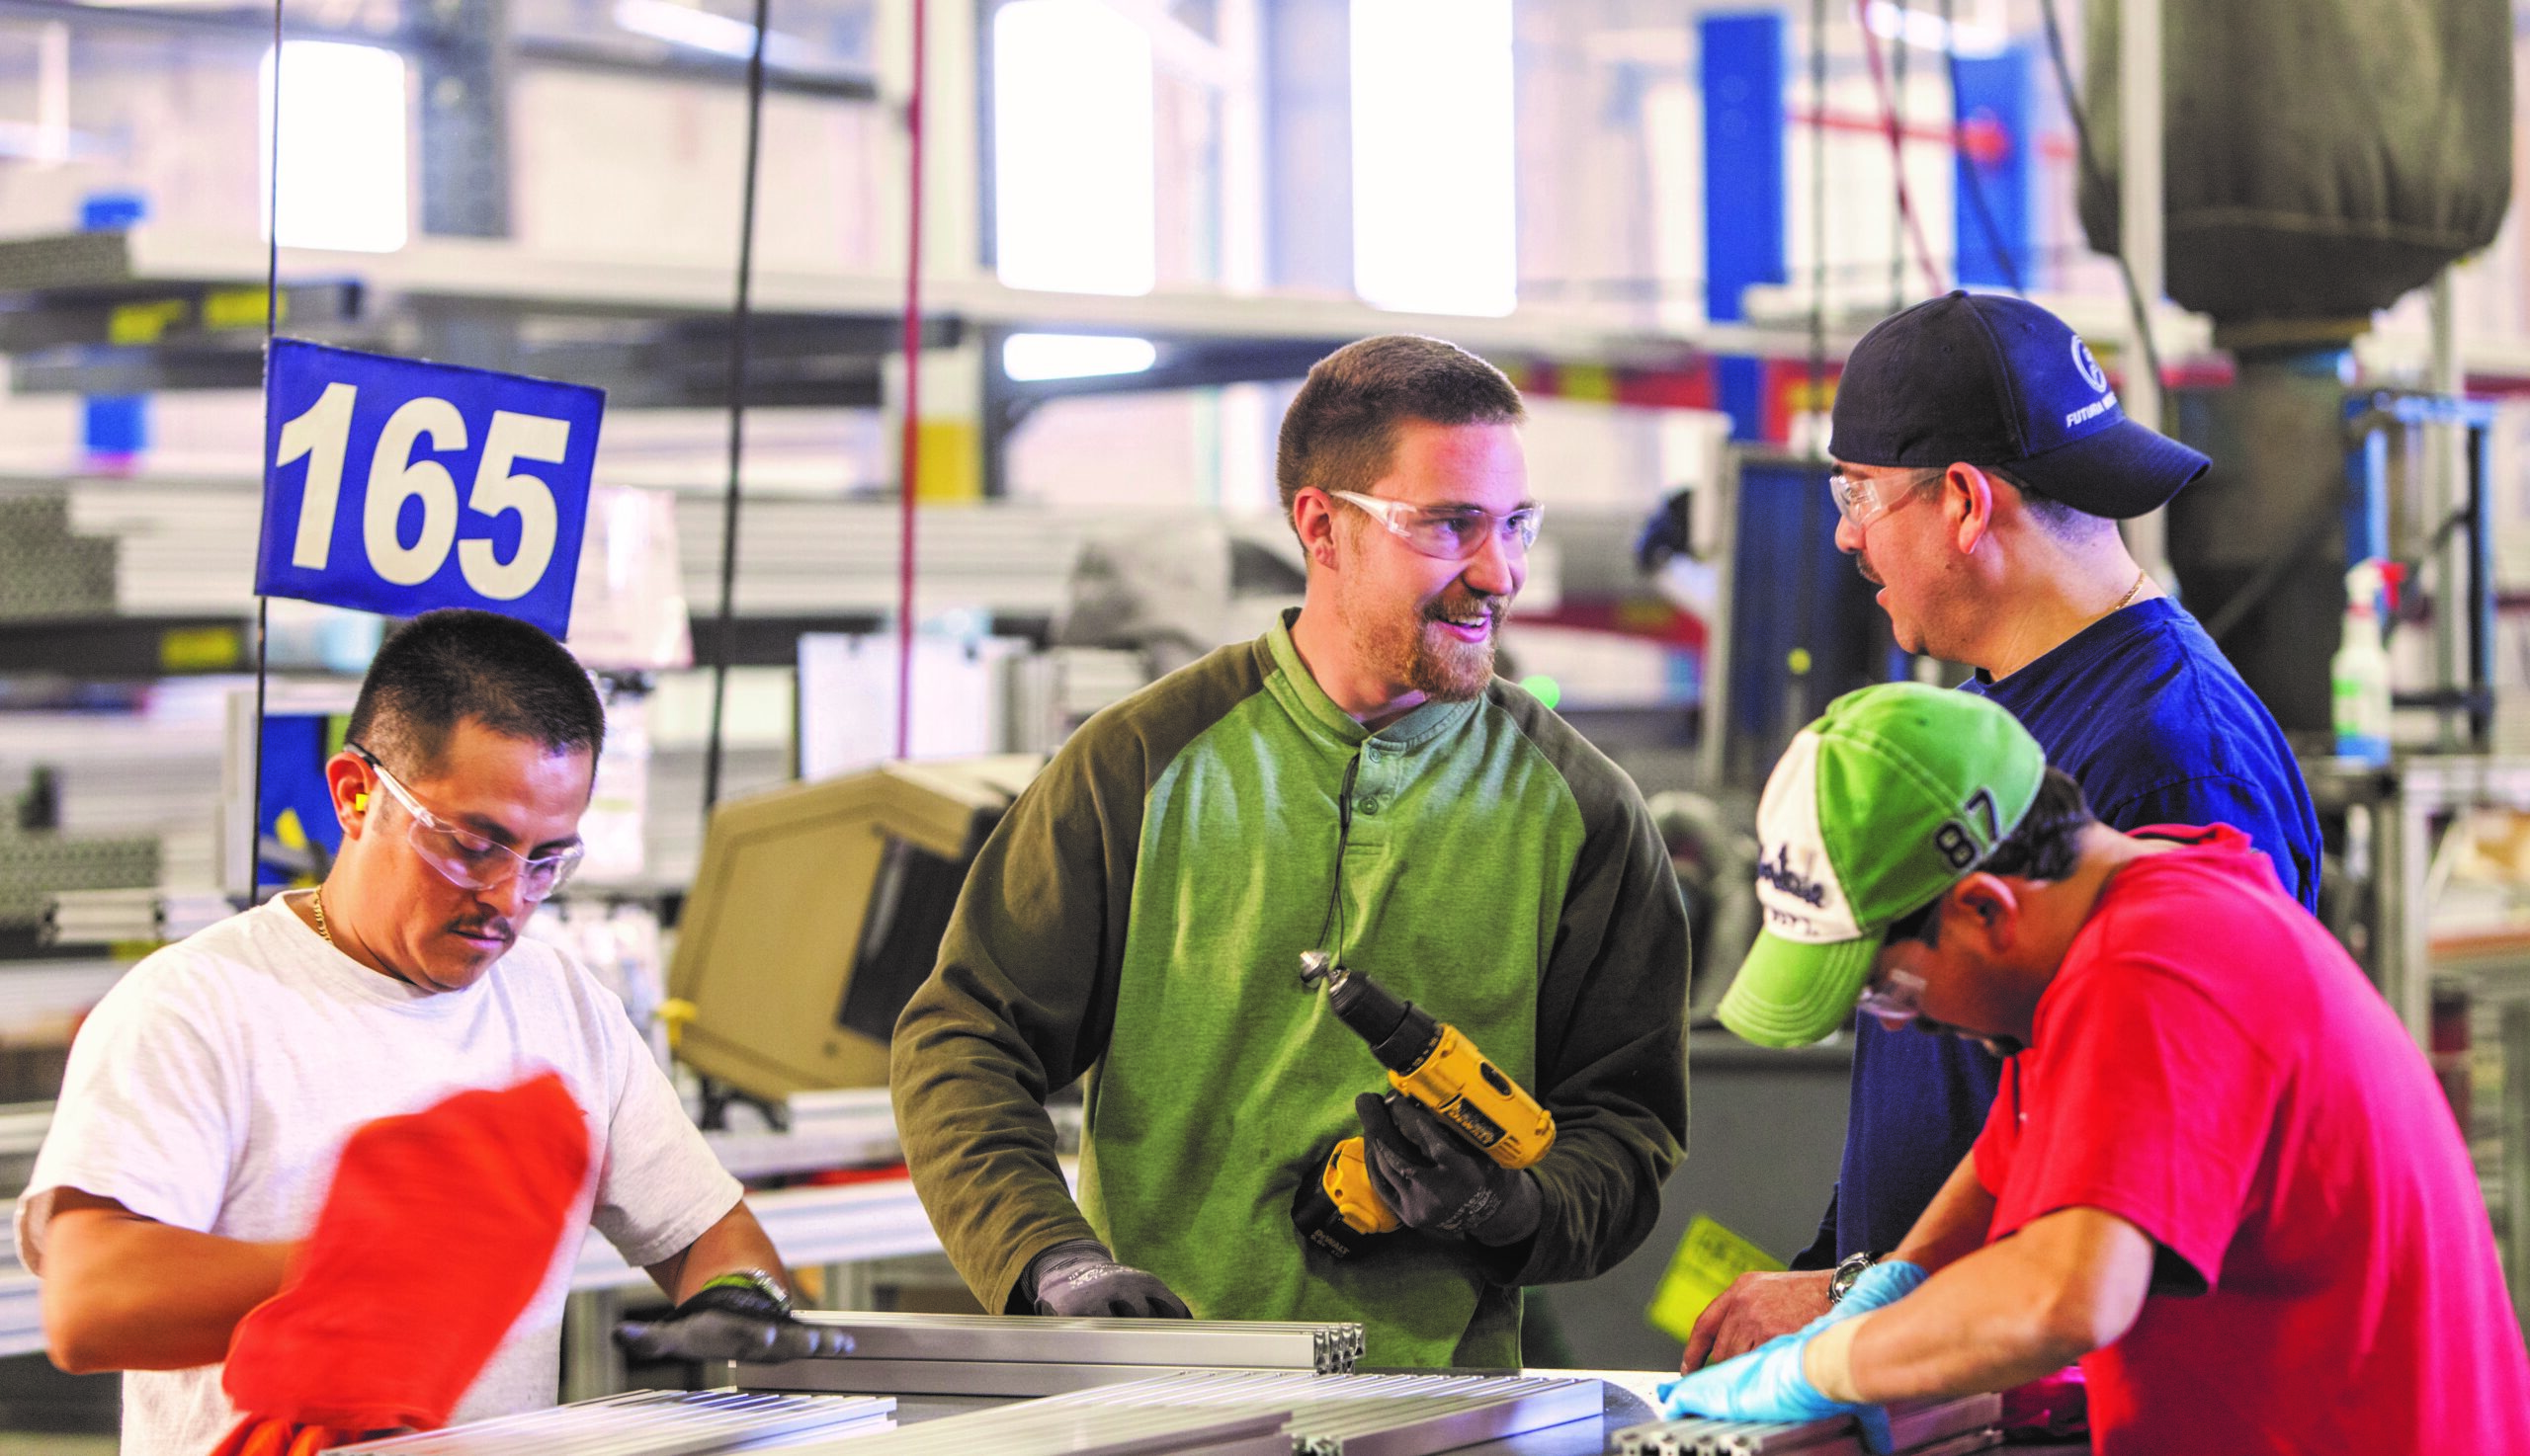
[[[693,1006],[678,1059],[767,1100],[883,1087],[966,864],[1042,763],[885,763],[716,806],[668,968]]]

